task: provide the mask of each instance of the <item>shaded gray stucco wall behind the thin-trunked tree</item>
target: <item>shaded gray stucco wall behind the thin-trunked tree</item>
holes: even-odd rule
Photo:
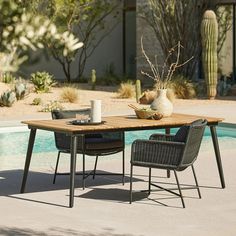
[[[112,19],[107,19],[111,21]],[[122,40],[122,11],[120,9],[120,22],[114,30],[104,38],[101,44],[96,48],[94,54],[87,60],[85,67],[85,76],[90,76],[91,70],[97,71],[97,76],[104,74],[106,68],[112,63],[115,73],[121,75],[123,73],[123,40]],[[36,52],[37,54],[38,52]],[[78,58],[73,62],[72,78],[78,73]],[[48,71],[57,79],[65,79],[61,65],[52,57],[46,58],[41,56],[40,61],[34,65],[26,65],[21,68],[21,72],[25,77],[35,71]]]

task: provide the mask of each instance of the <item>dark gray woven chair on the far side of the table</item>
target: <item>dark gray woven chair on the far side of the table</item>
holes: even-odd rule
[[[75,118],[76,114],[89,115],[90,109],[80,110],[63,110],[63,111],[52,111],[53,119],[66,119]],[[57,169],[61,153],[70,153],[70,137],[63,133],[54,133],[55,144],[58,149],[57,163],[54,173],[53,183],[56,181]],[[106,156],[122,152],[122,174],[118,173],[107,173],[109,175],[122,175],[122,182],[124,184],[125,177],[125,154],[124,154],[124,132],[109,132],[109,133],[92,133],[78,136],[77,153],[83,155],[83,188],[85,187],[85,179],[89,175],[93,175],[93,179],[96,175],[97,161],[99,156]],[[83,145],[83,146],[82,146]],[[85,172],[85,156],[96,156],[95,165],[93,171]],[[62,173],[60,173],[62,174]],[[100,173],[100,175],[106,173]]]

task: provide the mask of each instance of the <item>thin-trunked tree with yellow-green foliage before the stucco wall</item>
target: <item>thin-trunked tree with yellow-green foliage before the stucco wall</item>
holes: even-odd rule
[[[81,48],[78,56],[77,79],[80,79],[83,75],[87,59],[120,21],[117,16],[121,1],[44,0],[36,2],[25,0],[23,6],[31,12],[40,12],[57,26],[59,32],[69,31],[84,43],[84,47]],[[113,19],[107,20],[107,17],[113,17]],[[71,64],[77,51],[65,56],[55,44],[50,44],[50,52],[60,63],[67,81],[70,82]]]

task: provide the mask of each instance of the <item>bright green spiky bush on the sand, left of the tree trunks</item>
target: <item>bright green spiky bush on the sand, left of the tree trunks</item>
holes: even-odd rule
[[[55,83],[53,80],[53,75],[48,72],[36,72],[31,74],[31,82],[34,84],[34,89],[36,93],[48,93]]]

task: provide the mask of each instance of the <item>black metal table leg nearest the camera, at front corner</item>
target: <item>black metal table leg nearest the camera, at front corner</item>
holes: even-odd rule
[[[76,168],[76,152],[77,152],[77,136],[71,136],[70,146],[70,203],[69,206],[74,205],[74,192],[75,192],[75,168]]]

